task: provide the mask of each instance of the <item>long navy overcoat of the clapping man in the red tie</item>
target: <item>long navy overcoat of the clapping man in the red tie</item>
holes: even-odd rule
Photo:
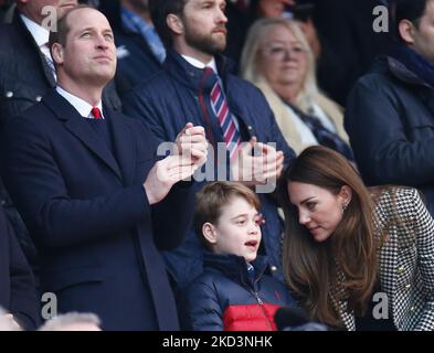
[[[159,249],[176,247],[194,195],[179,185],[149,206],[142,183],[157,141],[104,107],[113,152],[56,92],[10,120],[1,169],[41,253],[41,285],[59,311],[97,313],[105,330],[177,330]],[[170,214],[170,222],[163,218]]]

